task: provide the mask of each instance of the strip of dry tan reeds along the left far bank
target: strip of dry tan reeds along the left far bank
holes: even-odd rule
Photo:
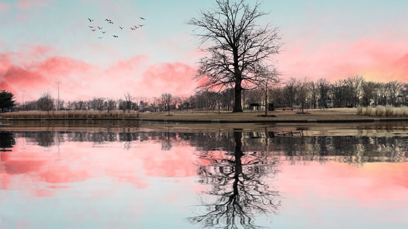
[[[15,119],[44,119],[44,118],[139,118],[139,113],[134,110],[123,112],[123,110],[98,111],[98,110],[60,110],[60,111],[16,111],[2,113],[3,118]]]

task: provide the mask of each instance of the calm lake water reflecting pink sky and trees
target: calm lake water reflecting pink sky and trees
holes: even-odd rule
[[[1,228],[408,226],[406,123],[63,126],[0,131]]]

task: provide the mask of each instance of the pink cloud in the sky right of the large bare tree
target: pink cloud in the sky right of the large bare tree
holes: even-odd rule
[[[277,56],[283,78],[308,76],[329,81],[361,74],[369,80],[408,81],[406,43],[361,39],[353,43],[336,42],[315,48],[303,41],[286,45]]]

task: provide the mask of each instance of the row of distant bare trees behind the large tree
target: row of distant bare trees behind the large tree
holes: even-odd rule
[[[363,76],[350,76],[333,83],[322,78],[290,78],[282,85],[267,90],[268,103],[275,105],[300,105],[308,108],[355,107],[367,105],[408,105],[408,83],[401,81],[374,82]],[[256,88],[242,93],[244,109],[256,103],[265,106],[265,90]],[[156,112],[178,110],[225,110],[233,109],[234,90],[223,92],[197,92],[190,97],[164,93],[161,97],[136,97],[127,92],[122,98],[94,97],[89,100],[65,101],[44,92],[38,100],[18,103],[18,110],[136,110]]]

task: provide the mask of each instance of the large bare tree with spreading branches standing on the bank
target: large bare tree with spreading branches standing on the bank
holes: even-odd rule
[[[242,112],[241,92],[257,84],[254,69],[260,63],[271,63],[281,47],[278,27],[257,24],[268,14],[260,8],[258,2],[250,6],[244,0],[216,0],[214,9],[201,10],[198,18],[187,21],[196,26],[193,33],[209,53],[198,62],[195,79],[206,79],[198,89],[234,88],[233,112]]]

